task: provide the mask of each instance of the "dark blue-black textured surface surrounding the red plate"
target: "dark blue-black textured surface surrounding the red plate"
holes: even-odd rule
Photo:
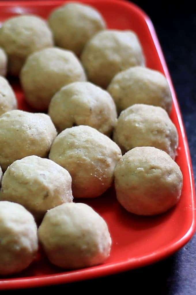
[[[174,1],[173,1],[174,2]],[[177,92],[196,173],[196,14],[190,1],[135,1],[150,16]],[[196,174],[195,174],[196,175]],[[196,235],[180,251],[154,265],[105,278],[6,293],[85,292],[104,290],[130,294],[195,295]],[[78,290],[79,289],[79,290]],[[124,290],[124,291],[123,291]],[[120,292],[120,293],[121,293]]]

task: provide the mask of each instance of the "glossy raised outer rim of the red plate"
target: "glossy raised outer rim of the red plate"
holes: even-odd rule
[[[23,6],[42,6],[42,5],[53,5],[53,4],[62,4],[64,1],[58,0],[46,0],[46,1],[1,1],[1,6],[14,6],[14,5],[23,5]],[[83,1],[85,2],[85,1]],[[95,2],[93,0],[89,0],[88,2]],[[145,20],[148,30],[150,32],[151,38],[155,45],[155,49],[157,51],[158,57],[160,59],[161,66],[163,68],[163,72],[167,78],[167,81],[170,86],[170,90],[172,93],[173,104],[175,106],[177,120],[180,126],[180,131],[183,138],[183,144],[185,147],[185,157],[186,162],[188,164],[188,171],[189,171],[189,179],[190,179],[190,189],[191,189],[191,200],[192,200],[192,223],[190,225],[189,230],[175,243],[167,246],[167,248],[160,248],[159,250],[153,252],[152,254],[144,255],[141,258],[131,258],[127,261],[112,263],[110,265],[100,265],[99,268],[96,268],[96,272],[94,272],[94,267],[80,269],[73,271],[72,273],[57,273],[52,275],[41,275],[35,277],[26,277],[26,278],[8,278],[8,279],[1,279],[0,278],[0,290],[5,289],[25,289],[25,288],[32,288],[32,287],[41,287],[41,286],[48,286],[48,285],[55,285],[55,284],[63,284],[63,283],[71,283],[74,281],[82,281],[87,279],[98,278],[100,276],[108,276],[115,273],[120,273],[123,271],[128,271],[134,268],[140,268],[143,266],[150,265],[152,263],[158,262],[169,255],[175,253],[177,250],[182,248],[193,236],[195,233],[196,228],[196,220],[195,220],[195,209],[196,209],[196,202],[195,202],[195,182],[194,182],[194,174],[192,169],[192,161],[190,156],[190,150],[188,146],[187,135],[185,131],[185,126],[182,121],[182,114],[180,111],[179,103],[177,101],[177,95],[175,93],[175,89],[172,83],[172,79],[167,68],[167,64],[163,55],[163,51],[161,49],[157,34],[155,32],[155,28],[150,17],[136,4],[132,2],[120,1],[120,0],[99,0],[99,3],[116,3],[120,4],[126,8],[134,9],[140,16]]]

